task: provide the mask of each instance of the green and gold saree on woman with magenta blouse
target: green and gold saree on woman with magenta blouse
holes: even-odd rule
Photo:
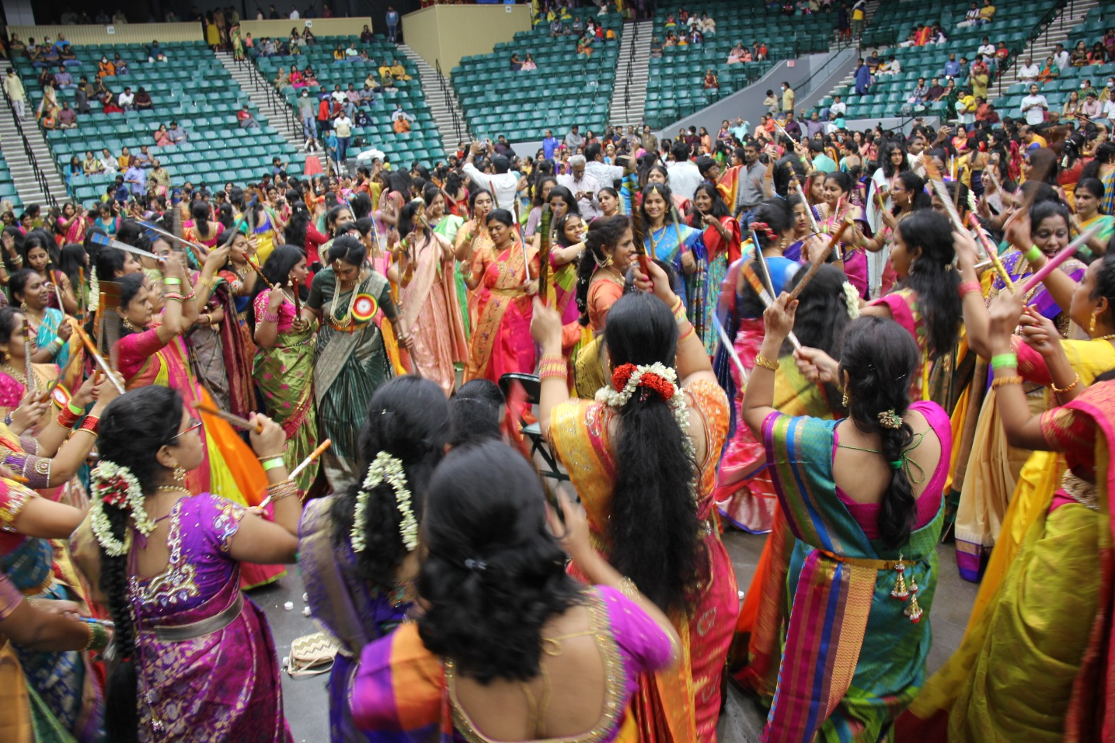
[[[255,317],[260,317],[271,299],[271,289],[255,297]],[[313,405],[313,328],[294,330],[294,305],[289,299],[279,308],[278,336],[271,348],[259,348],[252,366],[252,379],[259,389],[268,415],[287,434],[283,461],[290,472],[318,445],[318,413]],[[313,483],[317,467],[302,471],[298,486],[307,491]]]

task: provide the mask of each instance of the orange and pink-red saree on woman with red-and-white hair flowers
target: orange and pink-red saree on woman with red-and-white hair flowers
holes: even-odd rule
[[[646,676],[631,703],[639,740],[651,743],[706,741],[716,735],[721,674],[739,609],[735,571],[712,513],[716,463],[728,431],[728,399],[712,382],[697,382],[686,389],[692,408],[704,419],[708,442],[697,483],[697,518],[705,524],[701,543],[708,575],[701,577],[689,610],[670,616],[681,637],[678,663]],[[608,434],[610,419],[611,412],[603,403],[571,399],[554,408],[550,425],[553,448],[585,508],[592,543],[605,559],[615,474]]]

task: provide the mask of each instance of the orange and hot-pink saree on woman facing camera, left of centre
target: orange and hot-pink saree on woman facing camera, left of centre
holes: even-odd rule
[[[526,255],[524,257],[524,252]],[[539,255],[525,243],[515,243],[496,255],[494,251],[474,257],[484,264],[483,283],[476,297],[476,325],[465,382],[500,382],[504,374],[534,372],[534,339],[531,337],[532,298],[523,291],[527,276],[539,276]],[[526,260],[530,260],[527,270]]]

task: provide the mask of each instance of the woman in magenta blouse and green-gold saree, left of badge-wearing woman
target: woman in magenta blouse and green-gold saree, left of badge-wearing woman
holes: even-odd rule
[[[306,254],[294,245],[279,245],[263,264],[263,278],[252,301],[255,360],[252,379],[271,419],[287,434],[287,469],[293,470],[318,445],[318,414],[313,404],[313,322],[299,317],[294,296],[306,282]],[[313,469],[299,475],[309,490]]]

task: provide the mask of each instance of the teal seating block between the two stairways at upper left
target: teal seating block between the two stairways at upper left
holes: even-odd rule
[[[358,51],[367,49],[369,60],[375,61],[343,61],[333,60],[333,49],[337,45],[346,48],[351,44]],[[313,66],[320,88],[310,88],[317,93],[329,93],[334,85],[340,85],[341,90],[348,89],[348,84],[359,90],[363,87],[363,80],[369,71],[376,71],[379,66],[387,61],[392,64],[401,60],[410,80],[397,80],[395,87],[397,91],[385,91],[376,94],[376,103],[372,106],[362,106],[371,119],[370,126],[353,127],[353,143],[349,146],[348,156],[355,157],[362,149],[375,147],[382,151],[392,162],[403,163],[407,167],[413,162],[433,166],[437,161],[445,160],[442,149],[442,139],[430,115],[429,106],[426,104],[426,96],[423,94],[421,83],[418,78],[418,69],[413,61],[403,56],[403,52],[394,44],[387,41],[382,36],[376,36],[370,44],[361,44],[358,36],[322,36],[318,37],[318,44],[301,48],[298,56],[288,57],[258,57],[255,62],[260,73],[269,81],[274,80],[280,67],[288,70],[291,65],[298,69],[306,69],[307,65]],[[378,79],[378,74],[377,74]],[[294,108],[297,108],[297,96],[300,95],[293,87],[282,90],[283,97]],[[410,132],[396,134],[391,128],[391,113],[396,104],[403,105],[403,110],[414,117],[410,123]],[[295,112],[297,114],[297,112]]]

